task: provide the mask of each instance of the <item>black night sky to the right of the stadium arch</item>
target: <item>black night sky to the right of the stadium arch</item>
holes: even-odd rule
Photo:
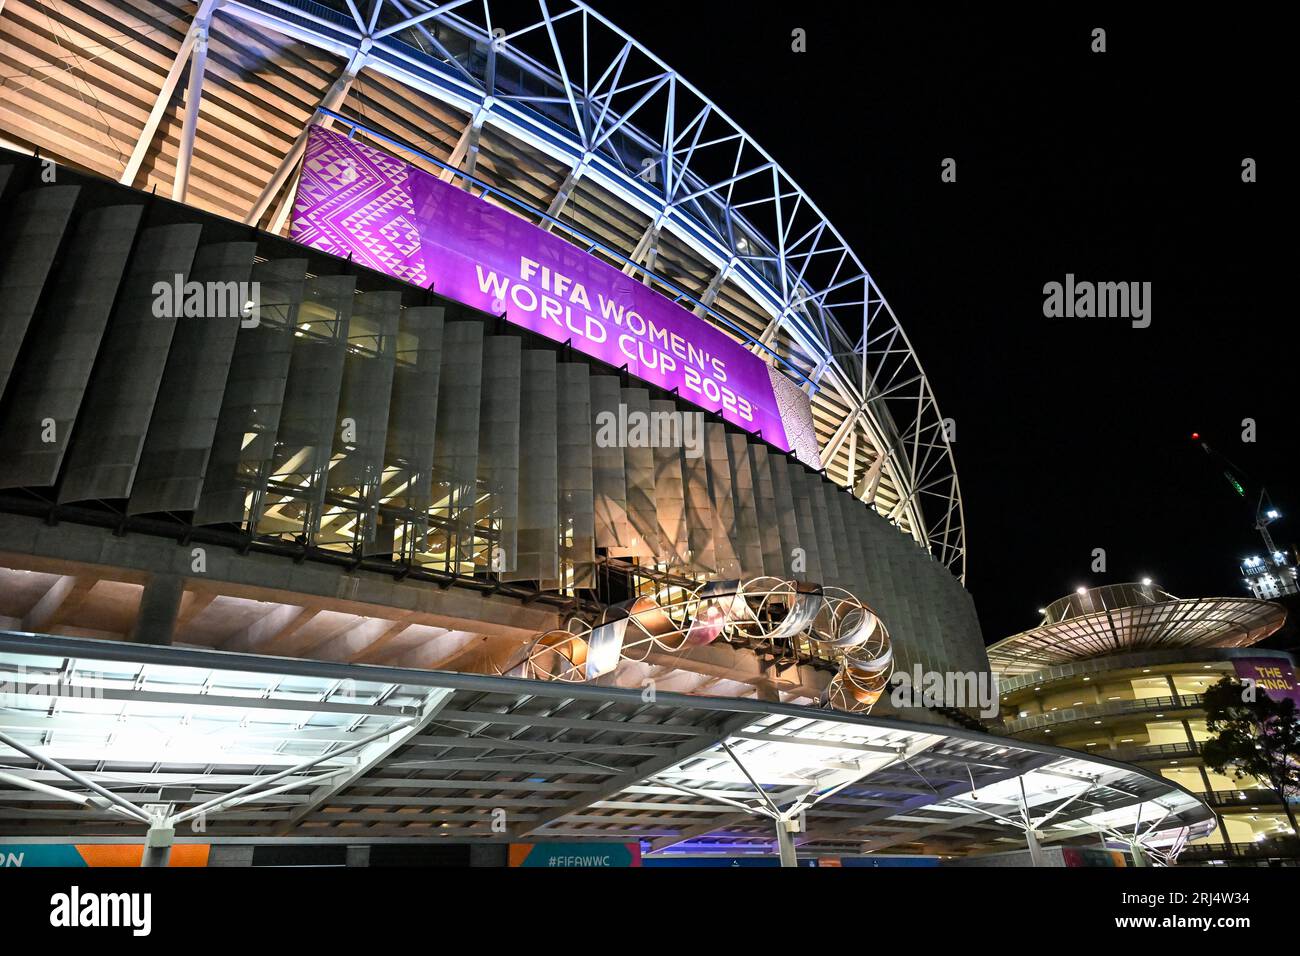
[[[599,5],[599,4],[598,4]],[[1080,584],[1244,594],[1253,502],[1300,527],[1288,34],[1265,17],[714,3],[602,10],[738,121],[850,241],[957,423],[992,641]],[[1089,49],[1106,29],[1105,53]],[[807,52],[790,31],[807,31]],[[944,157],[957,182],[940,181]],[[1258,182],[1242,182],[1253,157]],[[1279,228],[1279,224],[1282,228]],[[1046,319],[1043,286],[1152,282],[1152,325]],[[857,336],[858,330],[853,330]],[[1242,420],[1257,441],[1242,441]],[[1106,549],[1108,572],[1091,571]]]

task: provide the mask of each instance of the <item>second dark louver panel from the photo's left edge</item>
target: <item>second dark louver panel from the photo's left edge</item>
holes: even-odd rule
[[[0,488],[48,488],[58,479],[142,213],[140,206],[109,206],[77,224],[35,319],[39,334],[27,336],[23,363],[9,384],[0,419]],[[126,300],[152,299],[150,267],[140,263],[126,276]]]

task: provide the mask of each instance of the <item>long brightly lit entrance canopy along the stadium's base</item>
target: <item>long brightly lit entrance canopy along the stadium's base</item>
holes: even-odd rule
[[[0,632],[0,834],[963,855],[1213,827],[1054,748],[755,700]],[[133,809],[139,813],[133,813]]]

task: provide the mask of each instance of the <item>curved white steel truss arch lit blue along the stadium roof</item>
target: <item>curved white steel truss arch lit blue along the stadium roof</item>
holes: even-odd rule
[[[550,208],[530,207],[546,228],[558,224],[585,179],[650,221],[627,258],[628,269],[715,319],[723,316],[711,308],[712,299],[723,282],[734,284],[770,316],[749,345],[788,342],[809,362],[810,371],[800,376],[805,389],[849,410],[819,441],[828,473],[965,580],[966,533],[949,425],[897,316],[806,191],[654,53],[580,0],[538,0],[536,13],[526,16],[523,5],[499,0],[200,0],[191,35],[205,39],[218,4],[346,59],[308,125],[330,122],[352,79],[373,70],[469,114],[452,152],[458,165],[476,152],[485,125],[560,161],[568,174]],[[177,79],[194,46],[202,49],[202,43],[182,46]],[[192,147],[192,130],[186,135]],[[147,139],[136,147],[140,155]],[[299,156],[295,143],[247,221],[264,220]],[[651,168],[654,176],[647,174]],[[129,164],[124,181],[131,176]],[[272,228],[282,226],[287,206],[282,202],[273,213]],[[578,229],[567,232],[589,239]],[[664,232],[716,269],[703,295],[684,294],[655,273]],[[845,329],[859,325],[854,339]],[[845,446],[848,462],[840,466],[836,455]],[[876,499],[881,481],[897,490],[896,503]]]

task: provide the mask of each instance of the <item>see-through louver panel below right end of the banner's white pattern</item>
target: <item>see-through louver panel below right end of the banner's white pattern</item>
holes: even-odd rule
[[[373,551],[376,538],[400,312],[402,293],[369,291],[355,297],[347,323],[334,464],[326,486],[330,496],[351,498],[358,506],[334,518],[328,529],[321,528],[320,540],[359,540],[363,553]],[[354,519],[356,524],[348,529]]]

